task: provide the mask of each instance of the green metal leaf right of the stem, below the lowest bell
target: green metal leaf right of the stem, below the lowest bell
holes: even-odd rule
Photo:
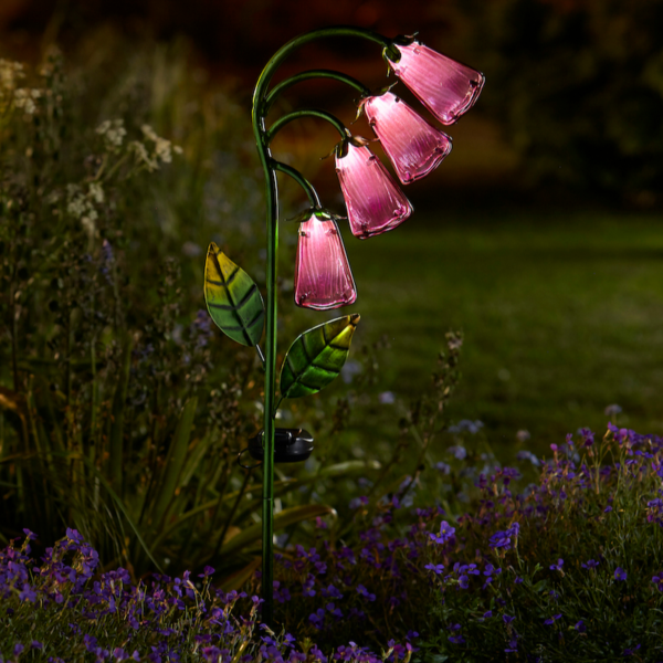
[[[340,372],[358,323],[359,314],[354,313],[297,337],[281,368],[281,397],[298,398],[324,389]]]

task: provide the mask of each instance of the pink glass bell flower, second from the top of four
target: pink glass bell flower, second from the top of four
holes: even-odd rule
[[[391,92],[368,97],[364,110],[403,185],[425,177],[451,151],[451,138]]]

